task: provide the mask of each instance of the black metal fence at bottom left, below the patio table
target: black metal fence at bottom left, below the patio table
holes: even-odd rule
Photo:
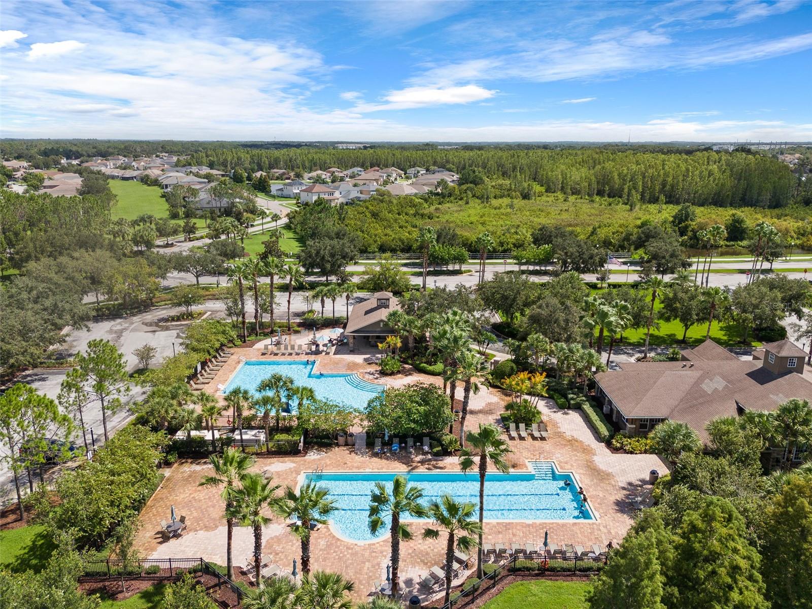
[[[218,568],[202,558],[197,559],[139,559],[89,560],[84,564],[84,575],[80,580],[89,579],[142,579],[163,580],[181,577],[185,573],[209,575],[217,579],[218,588],[227,585],[237,598],[242,598],[243,589],[224,576]]]

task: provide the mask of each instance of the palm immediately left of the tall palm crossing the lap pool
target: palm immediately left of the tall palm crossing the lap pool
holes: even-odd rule
[[[440,531],[448,534],[446,543],[446,597],[443,604],[448,604],[451,597],[451,568],[454,566],[454,551],[468,553],[477,547],[477,540],[472,535],[481,535],[482,526],[471,520],[473,512],[477,509],[473,503],[460,503],[451,495],[443,495],[439,501],[432,501],[427,508],[428,516],[434,528],[426,528],[423,538],[438,539]]]

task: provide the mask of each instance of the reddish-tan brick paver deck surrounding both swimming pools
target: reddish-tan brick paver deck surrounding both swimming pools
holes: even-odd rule
[[[237,348],[230,360],[209,383],[205,391],[217,395],[218,384],[225,386],[228,378],[245,359],[301,360],[306,356],[279,357],[259,355],[259,349]],[[313,359],[313,356],[310,356]],[[361,378],[380,382],[389,387],[400,387],[417,381],[442,385],[441,378],[411,372],[395,377],[383,377],[377,366],[369,363],[369,356],[322,356],[317,370],[323,372],[356,372]],[[409,368],[411,370],[411,368]],[[458,395],[461,391],[458,391]],[[472,395],[466,429],[474,430],[479,423],[499,423],[499,413],[509,401],[508,394],[483,389]],[[620,542],[633,522],[633,500],[650,492],[648,484],[651,469],[667,472],[667,464],[654,455],[613,454],[585,420],[580,410],[559,410],[552,400],[541,400],[539,408],[550,431],[545,440],[511,440],[513,453],[508,460],[513,469],[528,471],[528,460],[554,460],[561,471],[571,471],[598,514],[597,520],[560,522],[487,522],[485,541],[533,542],[537,545],[549,532],[551,542],[589,546],[591,543]],[[325,471],[358,472],[438,472],[460,471],[456,457],[433,458],[422,456],[359,455],[354,447],[315,448],[306,456],[257,456],[253,471],[270,470],[274,483],[296,486],[300,474],[320,468]],[[149,499],[141,513],[142,528],[136,546],[149,558],[198,557],[226,564],[226,526],[222,519],[222,501],[219,490],[198,486],[198,482],[211,472],[207,460],[181,460],[169,471],[161,486]],[[487,498],[486,498],[487,502]],[[170,542],[161,542],[159,522],[166,520],[171,505],[178,514],[184,514],[188,533]],[[404,590],[420,594],[417,582],[434,565],[443,564],[445,537],[436,541],[420,538],[429,523],[412,523],[412,542],[400,546],[400,581]],[[235,527],[233,558],[235,565],[245,565],[253,551],[253,535],[248,527]],[[293,559],[300,560],[300,543],[286,523],[278,517],[272,519],[263,533],[263,552],[273,563],[290,570]],[[375,542],[349,542],[335,536],[329,526],[313,532],[311,537],[312,568],[339,572],[356,583],[353,596],[365,599],[374,582],[384,581],[390,555],[388,534]],[[475,567],[475,559],[472,561]],[[300,565],[299,565],[300,568]],[[408,597],[407,597],[408,598]]]

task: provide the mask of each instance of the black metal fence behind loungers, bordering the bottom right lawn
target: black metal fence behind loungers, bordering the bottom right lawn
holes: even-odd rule
[[[529,575],[543,577],[546,575],[590,576],[596,575],[606,566],[607,556],[511,556],[499,564],[494,571],[481,580],[467,582],[463,590],[451,594],[451,600],[440,609],[454,609],[473,603],[482,594],[494,590],[497,583],[511,575]]]

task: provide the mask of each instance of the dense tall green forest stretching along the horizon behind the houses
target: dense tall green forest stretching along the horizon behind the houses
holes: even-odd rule
[[[489,178],[535,182],[546,192],[624,199],[631,205],[663,202],[719,207],[783,207],[793,201],[797,178],[788,166],[758,154],[709,151],[618,152],[610,149],[210,148],[189,162],[222,171],[284,168],[313,171],[336,167],[443,167],[483,171]]]

